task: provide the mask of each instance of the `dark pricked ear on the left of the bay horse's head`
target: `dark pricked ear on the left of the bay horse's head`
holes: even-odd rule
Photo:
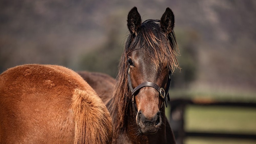
[[[128,13],[127,26],[131,34],[137,35],[141,27],[141,17],[137,7],[133,7]]]

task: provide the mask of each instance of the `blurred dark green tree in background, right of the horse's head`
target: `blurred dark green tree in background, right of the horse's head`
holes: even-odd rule
[[[173,74],[172,86],[175,88],[188,88],[189,84],[196,79],[197,73],[197,49],[199,36],[196,31],[177,31],[176,39],[180,50],[178,61],[181,71],[176,70]]]

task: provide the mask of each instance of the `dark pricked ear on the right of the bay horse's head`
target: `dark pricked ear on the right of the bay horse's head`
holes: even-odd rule
[[[162,15],[160,20],[160,27],[165,34],[170,34],[174,28],[174,15],[173,11],[167,7],[165,13]]]

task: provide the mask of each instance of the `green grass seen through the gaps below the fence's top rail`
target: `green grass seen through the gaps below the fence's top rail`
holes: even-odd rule
[[[188,106],[186,131],[256,134],[256,109]],[[185,144],[256,144],[256,140],[187,138]]]

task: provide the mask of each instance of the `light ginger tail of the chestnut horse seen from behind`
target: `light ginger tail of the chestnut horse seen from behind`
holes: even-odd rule
[[[75,119],[74,144],[105,144],[112,142],[110,114],[97,94],[76,89],[72,97]]]

